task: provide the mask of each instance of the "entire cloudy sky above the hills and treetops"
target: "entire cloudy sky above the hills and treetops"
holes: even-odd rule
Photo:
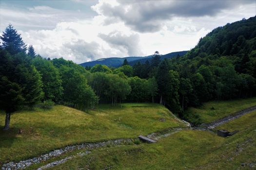
[[[11,23],[41,56],[83,63],[190,50],[255,15],[256,0],[0,0],[0,33]]]

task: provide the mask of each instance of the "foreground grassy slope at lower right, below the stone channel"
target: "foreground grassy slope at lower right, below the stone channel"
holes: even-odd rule
[[[255,169],[255,122],[256,111],[228,123],[228,130],[239,130],[234,136],[224,138],[205,131],[180,131],[154,144],[98,149],[54,169],[98,170],[111,167],[111,170],[235,170],[250,169],[250,163],[255,164]]]

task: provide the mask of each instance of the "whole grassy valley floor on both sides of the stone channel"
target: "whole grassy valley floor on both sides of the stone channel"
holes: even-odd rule
[[[247,102],[241,100],[240,103],[250,107],[256,105],[256,99],[252,98],[250,102],[248,99]],[[205,105],[197,108],[199,113],[207,114],[207,110],[212,111],[208,107],[211,107],[213,102]],[[215,119],[223,117],[219,115],[222,114],[221,110],[232,114],[245,108],[241,105],[234,106],[230,111],[225,110],[227,108],[225,104],[218,104],[218,107],[214,105],[214,107],[217,110],[214,114]],[[40,118],[34,118],[34,114],[39,115]],[[30,122],[25,116],[34,119],[34,122]],[[0,118],[2,119],[3,115],[0,115]],[[65,119],[67,121],[64,121]],[[161,119],[165,121],[159,121]],[[28,169],[39,167],[43,169],[47,164],[54,166],[59,160],[62,160],[63,164],[54,166],[52,169],[256,169],[256,111],[214,129],[214,131],[217,129],[239,131],[234,136],[226,138],[209,131],[187,129],[186,124],[174,117],[166,108],[150,103],[126,103],[122,108],[100,105],[89,114],[65,106],[56,106],[46,112],[38,110],[14,114],[11,122],[13,122],[11,124],[13,129],[9,134],[0,133],[0,137],[4,139],[0,141],[2,163],[17,162],[69,144],[115,138],[127,140],[105,143],[99,147],[86,146],[74,149],[44,162],[33,164]],[[46,122],[49,127],[45,126]],[[21,127],[24,128],[24,134],[16,132]],[[26,131],[32,127],[34,131],[26,134]],[[170,133],[172,130],[175,133]],[[164,137],[159,138],[154,144],[140,143],[136,139],[140,134],[148,135],[152,132],[169,133],[169,135],[162,134]],[[8,143],[12,141],[12,133],[16,133],[16,136],[13,143]],[[39,139],[35,138],[37,134]]]

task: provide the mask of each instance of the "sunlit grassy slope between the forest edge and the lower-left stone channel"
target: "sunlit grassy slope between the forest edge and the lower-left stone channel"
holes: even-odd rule
[[[159,104],[122,106],[99,105],[89,114],[61,105],[47,111],[17,112],[11,116],[11,129],[0,131],[0,163],[38,156],[69,144],[137,137],[181,124]],[[160,117],[166,121],[159,121]],[[4,118],[1,113],[0,127]]]

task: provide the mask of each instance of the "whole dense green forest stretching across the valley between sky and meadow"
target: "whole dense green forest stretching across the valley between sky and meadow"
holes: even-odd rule
[[[158,102],[186,119],[188,106],[256,94],[256,17],[214,29],[184,56],[119,68],[83,68],[72,61],[46,59],[9,25],[1,35],[0,109],[11,113],[54,103],[88,111],[97,103]],[[120,104],[121,106],[121,104]]]

